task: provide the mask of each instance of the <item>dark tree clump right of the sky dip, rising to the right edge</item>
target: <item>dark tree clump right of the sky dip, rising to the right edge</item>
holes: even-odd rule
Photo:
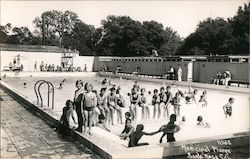
[[[239,7],[227,21],[208,18],[198,25],[180,48],[180,54],[249,54],[250,3]]]

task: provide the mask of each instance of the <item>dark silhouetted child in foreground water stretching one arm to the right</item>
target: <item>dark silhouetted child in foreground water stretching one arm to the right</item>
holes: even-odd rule
[[[129,139],[128,147],[149,145],[149,143],[138,143],[138,142],[143,135],[154,135],[160,132],[158,130],[152,133],[147,133],[147,132],[143,132],[143,129],[144,129],[144,126],[142,124],[138,124],[136,126],[136,131],[132,132],[131,137]]]

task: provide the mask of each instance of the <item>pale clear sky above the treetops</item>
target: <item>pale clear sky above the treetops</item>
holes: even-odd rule
[[[171,27],[182,37],[194,32],[200,21],[208,17],[224,19],[236,15],[239,6],[248,0],[161,0],[161,1],[7,1],[1,0],[0,24],[27,26],[34,31],[32,21],[48,10],[70,10],[86,24],[101,26],[107,15],[130,16],[134,20],[157,21]]]

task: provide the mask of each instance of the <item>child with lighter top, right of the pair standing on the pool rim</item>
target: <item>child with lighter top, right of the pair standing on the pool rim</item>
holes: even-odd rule
[[[86,83],[84,89],[86,90],[84,94],[83,101],[83,113],[85,116],[84,122],[84,133],[86,132],[87,125],[89,125],[89,134],[91,135],[91,127],[93,122],[93,110],[97,105],[97,97],[96,94],[92,92],[92,84]]]

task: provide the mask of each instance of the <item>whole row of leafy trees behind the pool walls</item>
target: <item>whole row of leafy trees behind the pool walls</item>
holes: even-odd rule
[[[139,22],[128,16],[108,16],[101,27],[82,22],[71,11],[47,11],[33,20],[36,30],[0,26],[0,43],[53,45],[76,49],[81,55],[159,56],[174,54],[248,54],[250,3],[230,19],[208,18],[186,39],[156,21]]]

